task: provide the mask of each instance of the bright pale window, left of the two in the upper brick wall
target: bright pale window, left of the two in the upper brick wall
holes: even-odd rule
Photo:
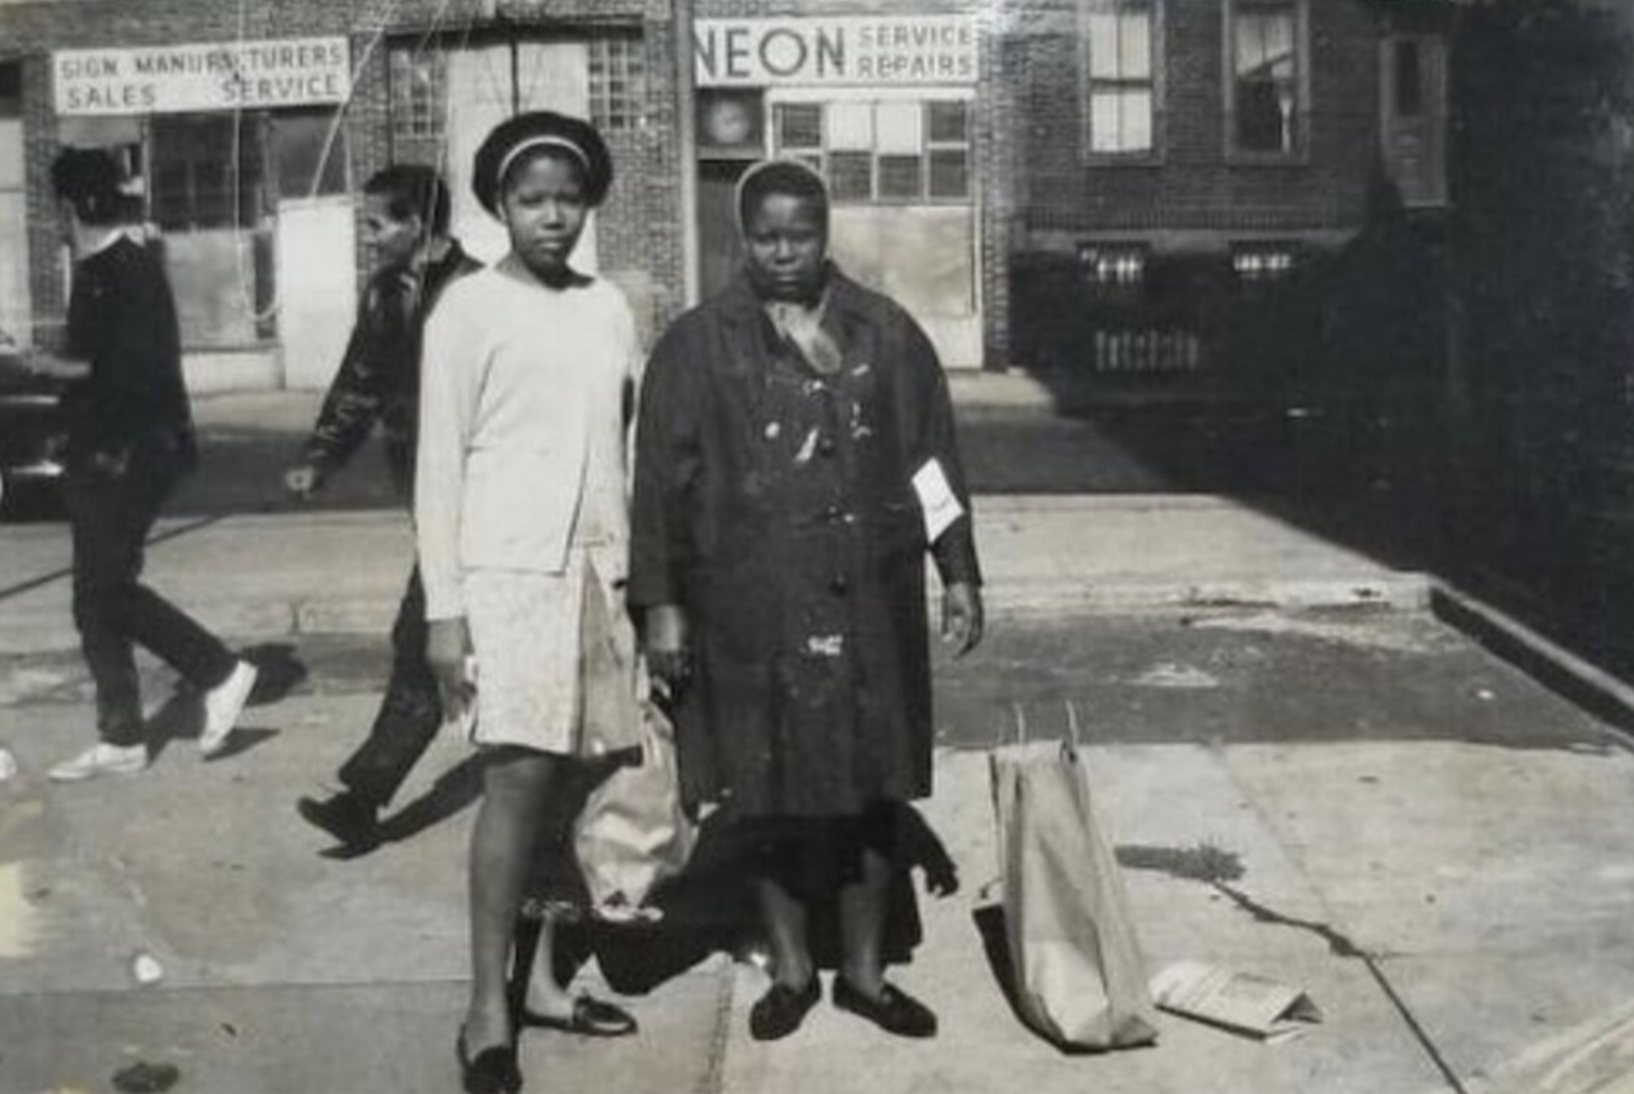
[[[1157,149],[1157,2],[1085,0],[1085,149],[1092,157],[1149,157]]]

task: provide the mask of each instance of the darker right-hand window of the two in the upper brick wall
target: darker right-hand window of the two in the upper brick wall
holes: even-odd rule
[[[1232,0],[1226,10],[1232,149],[1294,155],[1306,124],[1299,0]]]

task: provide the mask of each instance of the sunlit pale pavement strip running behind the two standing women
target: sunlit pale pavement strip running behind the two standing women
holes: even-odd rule
[[[975,499],[993,613],[1261,603],[1422,607],[1428,582],[1211,495]],[[147,579],[240,638],[377,633],[408,567],[399,512],[163,522]],[[69,649],[65,525],[0,525],[0,652]]]

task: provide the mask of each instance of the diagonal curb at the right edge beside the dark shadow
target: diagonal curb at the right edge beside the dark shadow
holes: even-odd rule
[[[1430,612],[1623,736],[1634,736],[1634,687],[1446,581],[1430,589]]]

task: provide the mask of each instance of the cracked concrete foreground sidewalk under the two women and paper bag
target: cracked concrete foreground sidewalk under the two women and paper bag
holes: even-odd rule
[[[528,1089],[1621,1089],[1634,755],[1619,738],[1418,613],[1018,623],[971,670],[1042,715],[1056,692],[1029,649],[1062,651],[1051,674],[1078,662],[1069,693],[1090,716],[1088,764],[1149,966],[1199,958],[1292,980],[1325,1011],[1319,1029],[1265,1047],[1163,1016],[1155,1048],[1105,1056],[1028,1033],[977,927],[997,872],[987,757],[946,747],[920,813],[962,886],[920,896],[923,945],[892,973],[940,1012],[940,1038],[894,1040],[825,1004],[788,1042],[752,1042],[753,965],[696,953],[631,986],[632,965],[665,965],[673,935],[660,932],[583,973],[619,988],[642,1033],[528,1033]],[[1381,682],[1391,695],[1369,702]],[[938,690],[943,716],[961,695]],[[291,809],[376,702],[255,708],[209,764],[186,711],[167,708],[160,736],[178,739],[155,769],[95,787],[41,775],[83,739],[82,700],[0,706],[21,764],[0,783],[0,1091],[105,1091],[137,1063],[212,1094],[458,1089],[467,751],[436,742],[405,793],[407,811],[435,808],[371,855],[320,857]],[[1201,847],[1229,890],[1201,878]],[[136,955],[163,980],[141,986]]]

